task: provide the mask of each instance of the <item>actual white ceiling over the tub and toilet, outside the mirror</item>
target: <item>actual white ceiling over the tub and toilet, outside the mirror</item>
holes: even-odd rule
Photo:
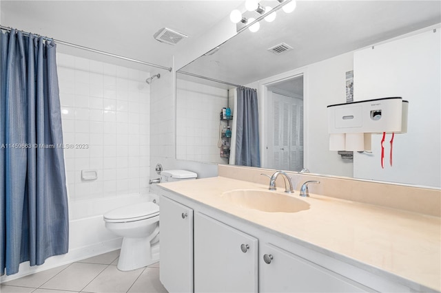
[[[1,0],[1,25],[96,50],[171,67],[172,55],[227,17],[243,1],[21,1]],[[170,28],[189,37],[156,41]],[[59,52],[71,52],[59,46]],[[78,50],[77,50],[78,51]]]

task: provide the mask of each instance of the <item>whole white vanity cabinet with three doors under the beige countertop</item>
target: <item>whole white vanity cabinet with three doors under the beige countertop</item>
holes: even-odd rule
[[[373,274],[353,259],[167,188],[156,193],[161,282],[169,292],[415,292],[393,274]]]

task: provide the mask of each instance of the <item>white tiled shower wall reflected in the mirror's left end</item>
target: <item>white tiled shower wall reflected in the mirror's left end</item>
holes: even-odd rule
[[[220,111],[227,89],[176,79],[176,158],[227,164],[220,158]],[[194,105],[198,105],[194,107]]]

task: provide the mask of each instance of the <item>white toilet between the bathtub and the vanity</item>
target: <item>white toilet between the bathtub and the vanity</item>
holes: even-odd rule
[[[161,172],[161,182],[194,180],[185,170]],[[123,237],[117,268],[135,270],[159,260],[159,206],[154,202],[132,204],[104,214],[105,227]]]

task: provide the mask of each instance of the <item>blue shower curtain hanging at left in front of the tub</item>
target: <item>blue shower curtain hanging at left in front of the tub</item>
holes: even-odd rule
[[[0,31],[0,274],[68,252],[56,45]]]

